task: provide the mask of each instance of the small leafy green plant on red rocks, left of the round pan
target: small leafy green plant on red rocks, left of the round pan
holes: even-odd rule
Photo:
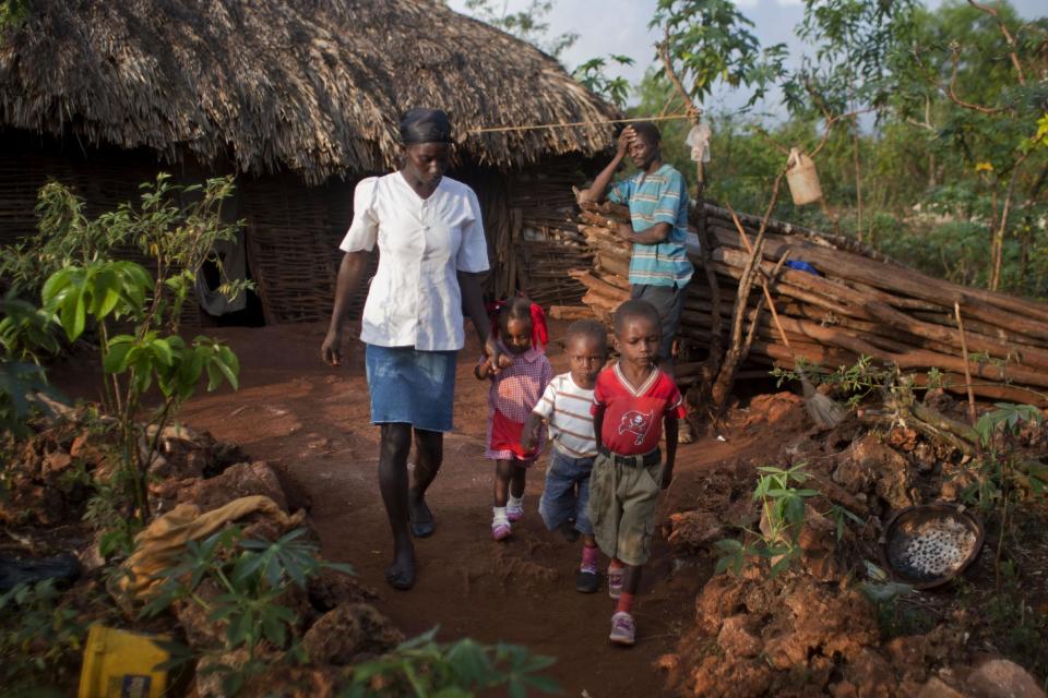
[[[772,466],[758,468],[762,474],[757,479],[753,501],[761,506],[761,530],[748,531],[754,539],[748,544],[736,539],[714,543],[720,553],[715,574],[730,570],[739,575],[747,557],[755,555],[771,562],[769,576],[774,578],[800,556],[797,540],[805,525],[805,501],[819,494],[818,490],[794,486],[808,480],[806,465],[800,462],[785,470]]]

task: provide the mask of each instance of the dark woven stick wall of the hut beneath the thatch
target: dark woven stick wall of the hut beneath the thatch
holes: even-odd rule
[[[48,180],[71,185],[86,201],[88,215],[136,201],[139,185],[162,167],[148,154],[88,152],[88,157],[37,144],[7,147],[0,156],[0,244],[13,244],[36,229],[36,196]],[[543,305],[577,303],[585,287],[568,276],[592,264],[593,254],[572,220],[571,184],[581,181],[577,158],[557,158],[509,176],[472,169],[461,178],[474,186],[484,208],[491,273],[488,292],[503,297],[523,290]],[[170,168],[163,168],[170,169]],[[187,182],[204,177],[183,174]],[[238,181],[238,217],[246,221],[248,264],[266,323],[325,322],[331,316],[342,252],[338,243],[353,220],[357,180],[307,186],[283,173]],[[124,252],[147,267],[134,250]],[[367,276],[374,273],[378,255]],[[366,293],[357,294],[350,316],[358,317]],[[182,324],[199,326],[195,300]]]

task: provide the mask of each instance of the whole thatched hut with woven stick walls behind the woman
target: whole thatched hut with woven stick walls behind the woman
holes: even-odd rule
[[[527,287],[563,172],[612,144],[606,127],[471,133],[612,116],[531,45],[436,0],[33,0],[0,34],[0,242],[33,230],[48,179],[98,210],[159,169],[234,172],[265,320],[321,320],[353,186],[394,166],[414,106],[462,134],[452,174],[485,205],[493,290]]]

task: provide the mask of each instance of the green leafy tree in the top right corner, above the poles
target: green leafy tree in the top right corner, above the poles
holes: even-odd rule
[[[918,12],[914,43],[897,59],[895,106],[901,118],[939,147],[951,179],[975,194],[972,214],[988,231],[986,285],[993,290],[1023,284],[1025,273],[1004,279],[1009,232],[1022,220],[1021,257],[1028,262],[1031,222],[1048,158],[1048,19],[1023,23],[1007,3],[968,0]],[[932,151],[934,152],[934,151]],[[940,160],[941,161],[941,160]],[[938,172],[931,172],[938,181]]]

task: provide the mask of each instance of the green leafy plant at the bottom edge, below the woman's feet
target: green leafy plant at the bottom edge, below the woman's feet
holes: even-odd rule
[[[437,696],[465,698],[474,691],[499,689],[499,695],[524,698],[531,690],[560,693],[553,679],[541,675],[556,660],[526,648],[499,642],[485,646],[472,639],[438,643],[437,628],[403,642],[392,652],[353,667],[342,698]]]

